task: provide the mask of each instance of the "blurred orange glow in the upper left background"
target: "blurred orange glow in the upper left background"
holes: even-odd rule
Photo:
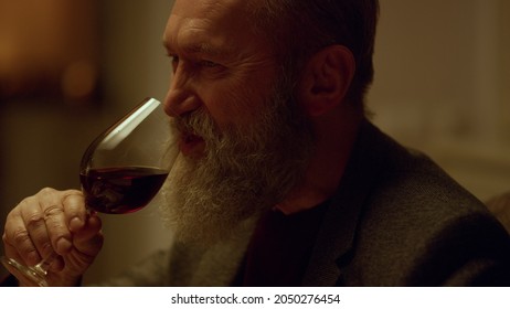
[[[94,93],[96,0],[0,2],[0,98]]]

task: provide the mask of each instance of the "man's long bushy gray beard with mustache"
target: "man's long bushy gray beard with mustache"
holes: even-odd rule
[[[162,216],[179,241],[227,237],[302,180],[314,149],[311,126],[295,100],[280,96],[275,93],[251,126],[220,131],[204,110],[177,119],[178,128],[205,140],[204,156],[180,153],[163,185]]]

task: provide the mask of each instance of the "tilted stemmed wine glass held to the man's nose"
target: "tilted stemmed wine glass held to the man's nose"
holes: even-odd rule
[[[84,152],[79,180],[87,211],[125,214],[145,207],[160,190],[178,152],[177,138],[161,104],[144,99]],[[1,262],[12,274],[44,287],[47,269],[56,257],[53,253],[32,267],[4,256]]]

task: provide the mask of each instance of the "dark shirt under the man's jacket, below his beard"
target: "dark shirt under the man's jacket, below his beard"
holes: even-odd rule
[[[249,242],[235,286],[300,286],[326,204],[291,215],[263,215]]]

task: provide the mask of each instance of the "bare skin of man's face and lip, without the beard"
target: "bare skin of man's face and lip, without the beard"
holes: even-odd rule
[[[177,0],[164,32],[173,78],[171,116],[206,109],[220,128],[254,121],[276,77],[268,41],[247,20],[253,0]],[[200,156],[200,137],[183,136],[181,151]]]

